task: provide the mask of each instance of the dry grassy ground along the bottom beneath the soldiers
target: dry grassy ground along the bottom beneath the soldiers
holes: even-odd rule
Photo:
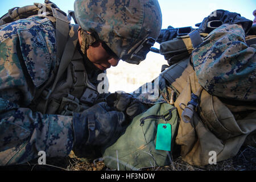
[[[100,159],[88,161],[76,158],[51,158],[46,165],[36,164],[37,160],[17,166],[0,167],[0,170],[11,171],[112,171],[105,166]],[[241,147],[236,156],[231,159],[218,162],[216,165],[191,166],[185,163],[181,156],[173,159],[170,166],[144,168],[142,171],[255,171],[256,148]]]

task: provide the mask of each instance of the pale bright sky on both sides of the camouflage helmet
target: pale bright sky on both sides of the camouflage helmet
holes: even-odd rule
[[[0,16],[7,13],[12,7],[32,5],[34,2],[43,3],[44,0],[9,0],[1,1]],[[52,0],[61,10],[67,13],[73,10],[75,0]],[[200,23],[205,16],[208,16],[216,9],[224,9],[236,13],[240,13],[245,18],[253,20],[253,10],[256,9],[255,0],[159,0],[162,10],[163,26],[186,27]]]

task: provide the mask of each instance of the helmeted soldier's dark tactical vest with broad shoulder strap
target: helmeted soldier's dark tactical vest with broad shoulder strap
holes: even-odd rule
[[[46,12],[40,14],[42,7],[45,7]],[[73,111],[80,112],[88,108],[98,98],[97,85],[89,81],[84,57],[77,49],[79,26],[71,26],[71,15],[67,16],[54,3],[45,0],[44,5],[34,3],[31,6],[14,7],[0,18],[2,26],[18,19],[42,16],[51,20],[56,27],[57,64],[48,81],[42,88],[35,90],[34,100],[29,106],[33,111],[72,115]]]

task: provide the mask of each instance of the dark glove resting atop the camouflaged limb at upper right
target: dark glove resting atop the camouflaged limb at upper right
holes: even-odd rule
[[[209,16],[204,18],[203,22],[199,26],[199,32],[210,33],[215,28],[221,26],[224,23],[238,24],[241,23],[245,34],[250,30],[253,21],[242,17],[238,13],[232,13],[226,10],[213,11]]]

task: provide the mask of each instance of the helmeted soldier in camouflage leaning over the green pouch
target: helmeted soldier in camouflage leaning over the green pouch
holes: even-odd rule
[[[76,0],[79,25],[70,24],[52,2],[44,6],[48,13],[37,14],[35,3],[26,7],[28,14],[36,11],[27,19],[18,14],[14,21],[22,12],[17,9],[2,19],[1,166],[28,162],[39,151],[67,156],[118,135],[127,115],[102,102],[98,75],[120,59],[139,64],[162,26],[156,0]]]

